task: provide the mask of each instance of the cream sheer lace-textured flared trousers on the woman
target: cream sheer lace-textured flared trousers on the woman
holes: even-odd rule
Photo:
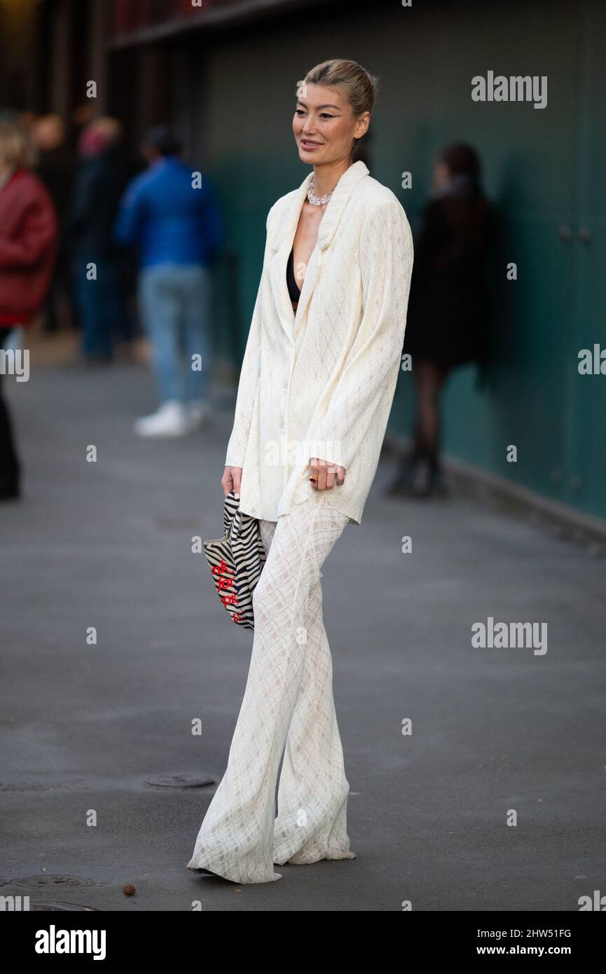
[[[259,522],[267,560],[252,597],[246,691],[227,770],[186,867],[192,872],[269,882],[282,879],[274,863],[356,857],[321,584],[322,563],[348,520],[318,491],[277,522]]]

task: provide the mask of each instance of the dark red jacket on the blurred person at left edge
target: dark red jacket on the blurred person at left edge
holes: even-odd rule
[[[17,169],[0,189],[0,326],[28,324],[44,305],[57,238],[51,197],[38,176]]]

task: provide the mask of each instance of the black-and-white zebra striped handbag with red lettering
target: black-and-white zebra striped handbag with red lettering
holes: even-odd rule
[[[225,535],[204,542],[210,575],[233,622],[254,629],[252,593],[265,565],[265,548],[256,517],[244,514],[233,490],[223,507]]]

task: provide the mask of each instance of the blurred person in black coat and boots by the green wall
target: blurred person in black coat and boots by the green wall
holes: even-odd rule
[[[434,168],[434,192],[414,236],[414,267],[403,353],[412,359],[416,417],[412,448],[401,462],[393,494],[444,494],[439,463],[439,398],[452,370],[485,364],[489,350],[488,259],[495,234],[493,207],[480,184],[479,157],[455,143]]]

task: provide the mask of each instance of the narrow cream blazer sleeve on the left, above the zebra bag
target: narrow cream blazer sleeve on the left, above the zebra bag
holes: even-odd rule
[[[271,207],[267,214],[267,220],[265,222],[267,236],[265,240],[265,253],[263,255],[263,270],[261,272],[261,281],[257,290],[250,328],[248,330],[245,356],[240,369],[234,426],[229,437],[225,457],[226,467],[242,467],[244,465],[246,443],[248,440],[248,432],[250,431],[252,410],[254,408],[261,369],[261,292],[264,286],[265,268],[267,266],[272,240],[270,220],[274,206]]]

